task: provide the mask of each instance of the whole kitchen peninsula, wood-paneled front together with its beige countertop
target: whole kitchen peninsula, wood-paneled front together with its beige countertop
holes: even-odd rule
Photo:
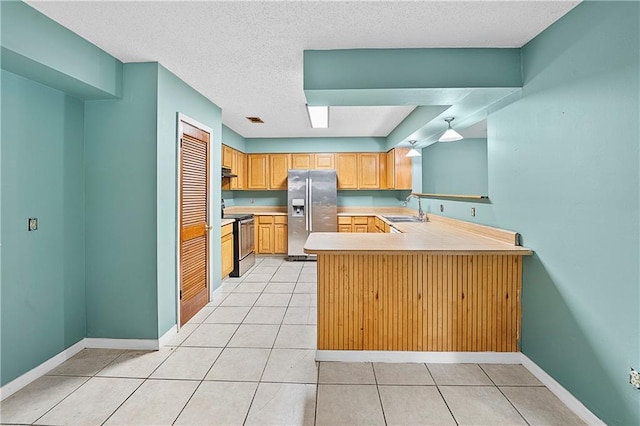
[[[517,352],[515,232],[430,215],[402,233],[317,233],[318,350]]]

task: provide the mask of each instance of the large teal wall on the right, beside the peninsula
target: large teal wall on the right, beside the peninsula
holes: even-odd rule
[[[522,233],[522,351],[609,424],[640,424],[636,2],[584,2],[523,48],[520,100],[489,115],[491,204]],[[471,220],[474,204],[443,203]]]

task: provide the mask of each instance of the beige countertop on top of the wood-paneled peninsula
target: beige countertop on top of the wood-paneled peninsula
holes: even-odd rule
[[[394,223],[402,234],[338,233],[311,234],[304,245],[306,253],[401,253],[433,254],[513,254],[530,255],[531,250],[484,237],[446,223]]]

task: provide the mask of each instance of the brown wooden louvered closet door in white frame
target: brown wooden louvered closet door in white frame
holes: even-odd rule
[[[180,325],[189,321],[209,301],[209,134],[184,121],[182,128]]]

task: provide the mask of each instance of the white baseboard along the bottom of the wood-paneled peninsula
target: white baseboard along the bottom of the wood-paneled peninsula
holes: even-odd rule
[[[520,364],[520,352],[316,351],[316,361]]]

